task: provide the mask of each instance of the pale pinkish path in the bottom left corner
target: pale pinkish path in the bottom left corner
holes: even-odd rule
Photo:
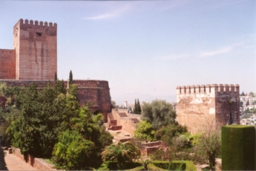
[[[30,166],[30,164],[21,160],[14,154],[9,154],[7,151],[4,161],[6,163],[7,170],[37,170],[35,167]]]

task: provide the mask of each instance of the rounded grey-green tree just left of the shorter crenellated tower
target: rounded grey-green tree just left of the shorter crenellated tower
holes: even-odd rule
[[[141,119],[149,122],[153,129],[160,129],[168,124],[175,124],[176,112],[172,104],[166,101],[155,100],[151,103],[144,103],[142,106]]]

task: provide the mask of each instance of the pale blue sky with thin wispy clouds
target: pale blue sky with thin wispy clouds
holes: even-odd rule
[[[19,19],[58,24],[58,78],[108,80],[113,101],[175,101],[177,86],[256,91],[256,1],[0,1],[0,48]]]

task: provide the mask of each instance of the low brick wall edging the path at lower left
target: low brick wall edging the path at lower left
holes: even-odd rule
[[[53,165],[45,162],[45,160],[41,158],[35,158],[30,155],[24,156],[24,154],[20,152],[19,148],[15,148],[13,154],[22,159],[24,162],[28,162],[32,167],[37,168],[37,170],[56,170],[52,168],[54,167]]]

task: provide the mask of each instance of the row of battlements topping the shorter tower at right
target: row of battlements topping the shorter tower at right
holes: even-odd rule
[[[229,93],[229,92],[238,92],[239,93],[239,85],[233,84],[206,84],[206,85],[196,85],[196,86],[177,86],[176,93],[177,94],[187,94],[187,93]]]

